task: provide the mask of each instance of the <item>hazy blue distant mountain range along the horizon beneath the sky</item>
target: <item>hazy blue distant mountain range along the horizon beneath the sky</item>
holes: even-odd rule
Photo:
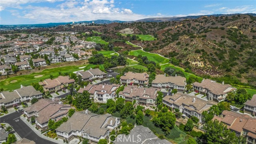
[[[114,22],[166,22],[166,21],[181,21],[185,19],[196,19],[201,16],[232,16],[237,14],[213,14],[213,15],[200,15],[200,16],[184,16],[184,17],[159,17],[159,18],[145,18],[141,20],[135,21],[120,21],[120,20],[90,20],[90,21],[80,21],[75,23],[87,23],[91,24],[94,22],[95,24],[110,24]],[[248,15],[256,16],[256,14],[248,13]],[[0,25],[1,29],[21,29],[21,28],[50,28],[54,26],[67,25],[72,24],[72,22],[58,22],[58,23],[47,23],[47,24],[17,24],[17,25]]]

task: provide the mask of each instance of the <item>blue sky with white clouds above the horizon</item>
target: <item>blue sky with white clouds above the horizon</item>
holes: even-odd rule
[[[0,24],[256,13],[255,0],[1,0]]]

